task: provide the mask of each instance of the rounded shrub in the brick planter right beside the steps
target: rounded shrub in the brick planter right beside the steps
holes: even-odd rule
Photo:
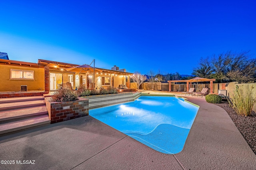
[[[54,92],[52,96],[53,102],[69,102],[73,100],[78,100],[78,95],[68,88],[60,89]]]

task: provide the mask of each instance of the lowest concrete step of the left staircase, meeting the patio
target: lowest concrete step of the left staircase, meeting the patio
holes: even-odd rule
[[[4,123],[0,125],[0,135],[45,124],[50,124],[48,114],[38,115],[36,117],[23,119],[20,121]]]

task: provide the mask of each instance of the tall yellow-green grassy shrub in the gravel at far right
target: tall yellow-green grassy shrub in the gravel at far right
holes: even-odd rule
[[[252,107],[256,103],[256,96],[252,93],[254,86],[245,87],[236,86],[236,89],[230,93],[228,102],[238,115],[249,116],[252,112]]]

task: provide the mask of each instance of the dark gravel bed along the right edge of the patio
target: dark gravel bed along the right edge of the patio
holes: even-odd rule
[[[216,105],[226,110],[237,129],[256,154],[256,113],[252,111],[250,116],[240,116],[233,108],[229,107],[228,102],[222,102]]]

